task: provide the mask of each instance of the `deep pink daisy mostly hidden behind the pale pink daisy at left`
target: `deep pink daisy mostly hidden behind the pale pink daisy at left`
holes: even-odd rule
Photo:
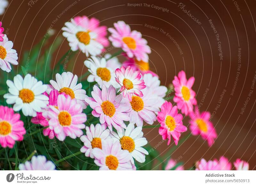
[[[49,97],[49,105],[57,107],[57,97],[59,96],[58,90],[52,90],[48,96],[46,92],[43,93],[45,96]],[[61,93],[65,94],[65,93]],[[49,106],[47,105],[47,106]],[[45,109],[44,109],[45,110]],[[40,124],[43,127],[49,126],[49,118],[45,118],[42,112],[36,112],[36,117],[31,119],[31,122],[34,124]],[[44,136],[49,136],[50,139],[53,139],[55,136],[54,130],[51,127],[45,128],[43,130]]]

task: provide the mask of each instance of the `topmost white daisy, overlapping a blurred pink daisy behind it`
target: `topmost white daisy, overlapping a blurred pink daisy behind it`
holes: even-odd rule
[[[103,49],[103,45],[96,41],[97,34],[90,30],[76,25],[72,22],[66,22],[66,27],[63,27],[64,31],[62,35],[67,38],[69,46],[72,51],[80,49],[86,56],[91,54],[92,56],[99,55]]]

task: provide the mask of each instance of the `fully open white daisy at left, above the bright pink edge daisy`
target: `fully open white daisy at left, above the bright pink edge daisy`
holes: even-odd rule
[[[25,116],[36,117],[36,112],[41,112],[48,104],[49,98],[42,93],[47,89],[42,81],[30,74],[23,78],[20,74],[13,78],[13,81],[7,80],[9,93],[4,95],[7,104],[14,104],[13,110],[18,112],[22,110]]]

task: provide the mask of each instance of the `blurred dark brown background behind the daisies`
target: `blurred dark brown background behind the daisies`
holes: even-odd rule
[[[20,59],[25,50],[30,50],[43,38],[58,16],[52,27],[55,30],[52,40],[62,34],[61,27],[64,23],[76,15],[96,17],[100,19],[101,25],[108,27],[113,27],[113,23],[118,20],[124,20],[148,40],[152,50],[149,55],[151,70],[160,76],[162,85],[168,86],[174,75],[180,70],[185,70],[187,77],[196,78],[193,89],[197,93],[198,103],[204,98],[205,90],[209,89],[202,102],[201,111],[207,110],[213,113],[219,105],[212,118],[219,135],[214,145],[209,148],[201,137],[193,136],[174,151],[172,158],[181,156],[185,168],[189,168],[202,157],[209,160],[224,155],[231,162],[236,158],[249,161],[250,169],[256,169],[254,105],[256,87],[252,87],[253,77],[256,74],[255,1],[9,0],[9,3],[10,6],[0,19]],[[130,6],[137,3],[141,6]],[[155,6],[163,8],[157,10]],[[190,14],[185,13],[185,10],[190,11],[191,16],[198,21],[189,17]],[[210,19],[216,33],[210,24]],[[145,27],[145,24],[156,29]],[[218,38],[216,34],[219,35]],[[174,43],[170,37],[173,37],[177,43]],[[238,63],[239,48],[241,63]],[[56,63],[68,49],[68,42],[63,39],[52,64]],[[221,58],[219,54],[223,57]],[[72,69],[75,63],[74,72],[78,76],[83,74],[86,72],[84,59],[85,56],[80,53],[77,58],[69,62],[71,65],[69,69]],[[241,64],[239,71],[238,64]],[[240,74],[237,75],[237,72]],[[233,95],[231,95],[232,89]],[[218,103],[223,90],[226,92],[221,103]],[[249,97],[250,90],[253,91]],[[246,102],[247,97],[250,98],[248,102]],[[241,114],[244,102],[246,107]],[[188,125],[186,119],[184,125]],[[145,129],[144,133],[152,146],[157,146],[162,140],[158,128]],[[164,142],[156,150],[164,154],[173,145],[171,143],[167,146],[167,142]]]

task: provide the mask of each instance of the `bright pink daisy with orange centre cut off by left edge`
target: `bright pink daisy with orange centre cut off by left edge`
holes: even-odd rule
[[[8,106],[0,106],[0,144],[12,148],[15,141],[22,141],[26,130],[20,114],[14,113]]]

